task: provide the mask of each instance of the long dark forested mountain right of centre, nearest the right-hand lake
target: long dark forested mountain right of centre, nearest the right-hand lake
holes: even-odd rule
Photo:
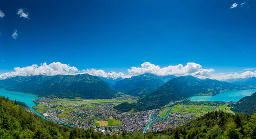
[[[155,109],[168,104],[171,101],[179,101],[195,95],[217,95],[221,92],[248,88],[244,85],[220,82],[217,80],[200,80],[193,76],[181,76],[174,78],[164,85],[156,88],[144,98],[138,100],[142,104],[132,104],[137,111]],[[127,104],[126,105],[130,105]],[[122,107],[124,104],[121,105]],[[116,109],[122,111],[120,106]]]

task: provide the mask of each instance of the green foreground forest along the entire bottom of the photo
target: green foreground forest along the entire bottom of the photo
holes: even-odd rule
[[[93,129],[60,126],[28,113],[17,101],[0,97],[1,139],[256,139],[256,114],[215,111],[184,126],[153,133],[104,135]]]

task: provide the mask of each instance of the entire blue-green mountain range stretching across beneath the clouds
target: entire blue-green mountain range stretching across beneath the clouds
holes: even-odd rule
[[[246,81],[253,81],[254,79],[250,78]],[[112,88],[109,84],[112,84]],[[117,96],[117,91],[127,95],[140,96],[141,99],[137,101],[138,103],[122,103],[115,106],[119,111],[126,112],[132,108],[135,111],[155,109],[190,96],[217,95],[229,90],[252,88],[252,86],[211,79],[201,80],[193,76],[143,74],[114,80],[78,74],[74,76],[16,76],[0,80],[0,88],[58,98],[113,98]]]

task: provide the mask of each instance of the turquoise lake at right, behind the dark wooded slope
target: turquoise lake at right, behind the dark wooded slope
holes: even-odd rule
[[[246,89],[246,90],[235,90],[222,92],[218,95],[213,96],[192,96],[189,97],[190,101],[239,101],[244,96],[252,95],[256,92],[256,89]]]

